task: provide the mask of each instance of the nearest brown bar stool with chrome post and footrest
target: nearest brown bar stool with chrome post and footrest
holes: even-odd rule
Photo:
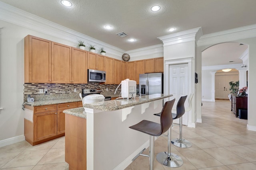
[[[162,133],[166,132],[168,129],[170,131],[170,126],[172,125],[172,106],[174,102],[175,99],[164,104],[161,111],[160,124],[148,120],[142,120],[136,125],[130,126],[131,129],[150,135],[149,155],[140,154],[142,156],[149,157],[150,170],[154,169],[154,137],[162,135]]]

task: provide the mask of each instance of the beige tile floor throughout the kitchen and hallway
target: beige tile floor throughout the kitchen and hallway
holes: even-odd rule
[[[184,161],[179,168],[162,166],[155,159],[155,170],[256,170],[256,132],[246,129],[247,120],[236,118],[230,101],[203,102],[202,122],[196,128],[183,126],[183,137],[193,146],[171,147]],[[179,127],[172,138],[179,137]],[[32,147],[26,141],[0,148],[0,170],[68,170],[64,158],[65,138]],[[155,155],[167,151],[167,138],[159,137]],[[148,154],[148,149],[144,152]],[[148,170],[149,160],[139,156],[125,170]]]

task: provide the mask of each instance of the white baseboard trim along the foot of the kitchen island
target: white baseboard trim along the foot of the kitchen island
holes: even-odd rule
[[[156,140],[157,138],[155,138]],[[127,166],[129,166],[132,163],[132,159],[138,154],[140,153],[140,151],[142,151],[142,149],[144,148],[148,148],[149,147],[149,140],[146,141],[146,143],[144,143],[140,148],[138,148],[137,150],[135,150],[130,156],[128,156],[123,162],[121,162],[118,166],[116,166],[114,168],[114,170],[124,170]],[[149,162],[148,162],[149,163]]]

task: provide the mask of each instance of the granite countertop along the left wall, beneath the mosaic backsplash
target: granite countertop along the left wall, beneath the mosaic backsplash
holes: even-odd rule
[[[81,98],[68,98],[68,99],[56,99],[56,100],[37,100],[34,102],[24,102],[28,106],[44,106],[50,104],[62,104],[70,102],[81,102]]]

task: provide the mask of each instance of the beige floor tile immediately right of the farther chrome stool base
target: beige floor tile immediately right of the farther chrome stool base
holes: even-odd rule
[[[190,138],[189,141],[194,143],[194,145],[200,149],[220,147],[220,145],[217,145],[204,137]]]

